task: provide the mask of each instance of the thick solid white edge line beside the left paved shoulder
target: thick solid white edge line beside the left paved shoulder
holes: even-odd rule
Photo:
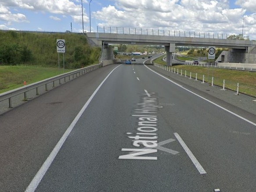
[[[120,66],[120,65],[119,65]],[[116,68],[118,68],[119,66],[117,66]],[[42,167],[40,168],[40,170],[36,173],[35,177],[32,179],[32,181],[30,182],[29,186],[26,188],[25,192],[34,192],[37,188],[37,186],[40,184],[44,174],[47,172],[47,170],[49,169],[51,163],[53,162],[55,156],[58,154],[59,150],[61,149],[61,146],[63,145],[63,143],[65,142],[65,140],[67,139],[67,137],[69,136],[70,132],[72,131],[72,129],[75,127],[77,121],[79,120],[79,118],[82,116],[83,112],[86,110],[86,108],[88,107],[88,105],[90,104],[91,100],[94,98],[95,94],[97,93],[97,91],[101,88],[101,86],[103,85],[103,83],[107,80],[107,78],[109,77],[109,75],[112,74],[112,72],[116,69],[114,68],[109,74],[108,76],[103,80],[103,82],[101,82],[101,84],[97,87],[97,89],[94,91],[94,93],[90,96],[89,100],[87,100],[87,102],[84,104],[83,108],[79,111],[79,113],[76,115],[75,119],[72,121],[72,123],[69,125],[69,128],[66,130],[66,132],[62,135],[61,139],[58,141],[57,145],[54,147],[54,149],[52,150],[52,152],[50,153],[50,155],[47,157],[47,159],[44,161]]]

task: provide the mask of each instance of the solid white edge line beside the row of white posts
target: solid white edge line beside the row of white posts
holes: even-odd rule
[[[148,68],[145,64],[144,64],[144,66],[145,66],[146,68]],[[182,85],[178,84],[177,82],[174,82],[174,81],[170,80],[169,78],[166,78],[165,76],[163,76],[163,75],[161,75],[161,74],[155,72],[155,71],[152,70],[151,68],[148,68],[148,69],[151,70],[152,72],[154,72],[155,74],[161,76],[162,78],[165,78],[165,79],[168,80],[169,82],[172,82],[173,84],[175,84],[175,85],[181,87],[182,89],[185,89],[186,91],[191,92],[191,93],[194,94],[195,96],[198,96],[198,97],[200,97],[201,99],[206,100],[206,101],[208,101],[209,103],[212,103],[213,105],[219,107],[220,109],[223,109],[223,110],[227,111],[228,113],[233,114],[234,116],[236,116],[236,117],[238,117],[238,118],[240,118],[240,119],[242,119],[242,120],[244,120],[244,121],[246,121],[246,122],[248,122],[248,123],[250,123],[250,124],[256,126],[256,123],[253,123],[252,121],[250,121],[250,120],[248,120],[248,119],[245,119],[245,117],[242,117],[242,116],[240,116],[240,115],[238,115],[238,114],[236,114],[236,113],[234,113],[234,112],[232,112],[232,111],[230,111],[230,110],[228,110],[228,109],[226,109],[226,108],[224,108],[224,107],[221,107],[220,105],[218,105],[218,104],[216,104],[216,103],[213,103],[213,102],[210,101],[210,100],[207,100],[206,98],[204,98],[204,97],[202,97],[202,96],[196,94],[195,92],[192,92],[192,91],[190,91],[190,90],[184,88]]]

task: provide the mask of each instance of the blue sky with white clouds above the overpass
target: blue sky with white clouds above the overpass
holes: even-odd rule
[[[4,30],[97,32],[104,26],[243,33],[256,40],[255,19],[256,0],[0,0]]]

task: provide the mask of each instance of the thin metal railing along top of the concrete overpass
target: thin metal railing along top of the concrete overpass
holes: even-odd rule
[[[130,34],[130,35],[147,35],[147,36],[173,36],[173,37],[194,37],[208,39],[237,39],[234,35],[209,33],[209,32],[185,32],[185,31],[170,31],[162,29],[143,29],[143,28],[120,28],[120,27],[99,27],[98,33],[113,33],[113,34]],[[247,37],[243,36],[244,39]]]

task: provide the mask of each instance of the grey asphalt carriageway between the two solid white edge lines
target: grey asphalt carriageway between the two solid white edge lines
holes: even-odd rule
[[[251,191],[255,157],[255,125],[142,65],[121,65],[36,191]]]

